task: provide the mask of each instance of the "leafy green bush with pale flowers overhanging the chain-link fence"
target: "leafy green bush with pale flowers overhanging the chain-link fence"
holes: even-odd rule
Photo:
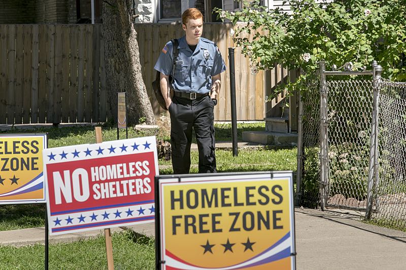
[[[352,70],[377,60],[384,77],[406,80],[401,58],[406,53],[405,0],[284,1],[291,14],[279,8],[268,11],[259,0],[243,2],[244,8],[235,13],[217,10],[220,18],[234,24],[247,22],[235,27],[234,42],[256,69],[283,63],[288,70],[304,71],[286,86],[289,92],[307,91],[305,74],[317,70],[321,59],[327,67],[352,62]],[[253,40],[244,37],[245,33],[253,33]]]

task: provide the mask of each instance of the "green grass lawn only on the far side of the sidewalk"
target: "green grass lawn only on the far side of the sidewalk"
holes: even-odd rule
[[[264,123],[238,124],[238,134],[246,130],[264,130]],[[105,125],[102,128],[104,141],[116,140],[117,129]],[[8,133],[42,133],[48,132],[49,147],[67,146],[84,143],[95,143],[93,127],[50,128],[24,131],[8,131]],[[124,138],[124,130],[120,131]],[[151,132],[139,132],[133,128],[128,129],[128,137],[154,135]],[[168,131],[160,130],[157,134],[160,139],[168,139]],[[166,138],[167,137],[167,138]],[[218,141],[231,138],[231,124],[216,124],[216,139]],[[246,172],[271,170],[296,170],[296,149],[239,149],[238,157],[233,157],[231,150],[216,150],[218,172]],[[167,165],[160,170],[160,174],[172,174],[171,161],[159,160],[159,165]],[[191,173],[197,173],[198,152],[191,152]],[[31,205],[4,205],[0,206],[0,230],[12,230],[44,226],[45,206],[43,204]]]

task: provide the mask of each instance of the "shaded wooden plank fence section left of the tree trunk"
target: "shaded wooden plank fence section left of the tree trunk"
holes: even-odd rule
[[[101,25],[0,25],[0,124],[106,121]]]

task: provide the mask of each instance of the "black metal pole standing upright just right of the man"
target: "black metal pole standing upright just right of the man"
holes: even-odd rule
[[[235,67],[234,48],[228,48],[228,59],[230,61],[230,97],[231,97],[231,129],[232,129],[232,156],[238,156],[237,143],[237,111],[235,102]]]

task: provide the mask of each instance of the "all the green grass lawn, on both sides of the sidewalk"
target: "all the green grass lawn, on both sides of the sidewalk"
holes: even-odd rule
[[[239,124],[238,136],[241,140],[242,131],[264,130],[264,124]],[[9,133],[21,133],[10,131]],[[24,133],[49,134],[49,147],[95,143],[94,128],[52,128],[42,130],[25,130]],[[147,132],[128,130],[128,137],[150,136]],[[104,126],[103,140],[115,140],[116,128]],[[121,130],[120,138],[125,132]],[[168,140],[167,131],[159,131],[158,139]],[[229,141],[231,125],[216,125],[216,140]],[[239,149],[238,157],[232,156],[231,150],[216,150],[218,172],[296,170],[296,148],[293,149]],[[191,152],[191,173],[197,173],[198,152]],[[160,174],[171,174],[171,161],[160,160],[159,165],[167,165]],[[5,205],[0,206],[0,230],[12,230],[44,226],[45,206]],[[153,239],[140,242],[128,232],[113,234],[113,256],[115,269],[154,269],[155,245]],[[74,252],[73,252],[74,251]],[[1,269],[43,269],[44,245],[26,247],[0,247]],[[79,241],[50,245],[50,269],[107,269],[106,246],[104,236]]]

